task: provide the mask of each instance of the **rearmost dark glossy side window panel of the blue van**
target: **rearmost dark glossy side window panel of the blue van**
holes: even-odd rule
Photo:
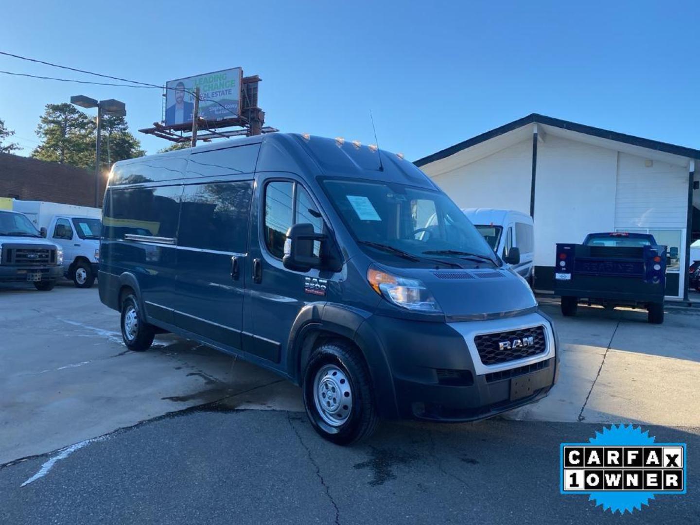
[[[177,237],[182,186],[111,189],[105,197],[102,229],[106,239],[125,234]]]

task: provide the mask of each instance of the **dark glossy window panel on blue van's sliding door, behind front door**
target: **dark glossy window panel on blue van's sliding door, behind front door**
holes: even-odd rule
[[[244,253],[253,181],[185,186],[178,245]]]

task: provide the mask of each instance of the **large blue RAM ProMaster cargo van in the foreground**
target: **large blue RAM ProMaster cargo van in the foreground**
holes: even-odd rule
[[[517,248],[501,260],[374,146],[275,133],[117,162],[100,253],[130,349],[165,330],[274,370],[339,444],[379,418],[483,419],[556,381]]]

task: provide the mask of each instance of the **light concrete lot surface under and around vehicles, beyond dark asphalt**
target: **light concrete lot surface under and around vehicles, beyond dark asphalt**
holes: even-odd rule
[[[700,311],[669,309],[648,325],[637,311],[543,308],[562,342],[559,384],[506,418],[700,427]],[[0,326],[0,464],[223,398],[303,410],[288,381],[206,346],[164,335],[152,351],[127,351],[97,288],[1,288]]]

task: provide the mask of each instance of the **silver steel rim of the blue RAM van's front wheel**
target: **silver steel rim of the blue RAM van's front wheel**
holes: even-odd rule
[[[330,426],[341,426],[352,412],[352,391],[347,374],[336,365],[323,365],[314,377],[314,405]]]

